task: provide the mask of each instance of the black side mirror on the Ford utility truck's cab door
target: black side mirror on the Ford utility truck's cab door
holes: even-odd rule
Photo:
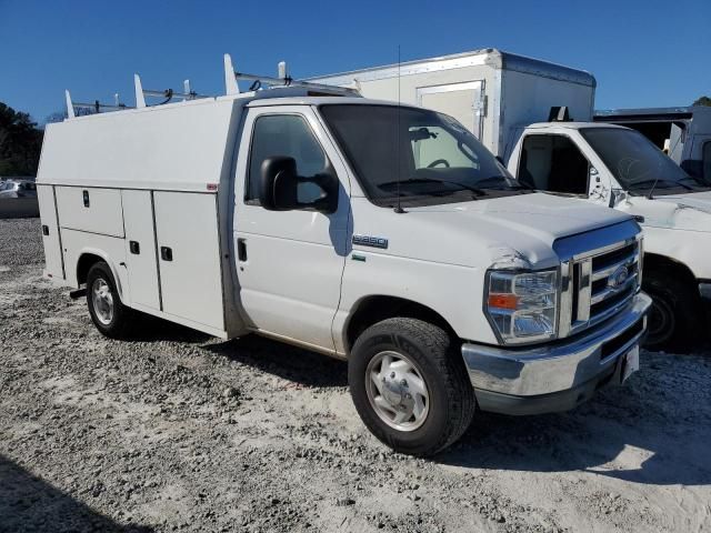
[[[309,200],[300,201],[299,191],[303,192],[304,185],[309,183],[317,188],[317,194],[311,192],[307,194],[310,197]],[[338,190],[339,182],[330,165],[322,174],[302,178],[297,172],[297,162],[293,158],[274,157],[262,162],[259,201],[262,208],[269,211],[313,209],[323,213],[333,213],[338,208]]]

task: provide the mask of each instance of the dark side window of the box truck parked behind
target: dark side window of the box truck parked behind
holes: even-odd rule
[[[519,180],[541,191],[588,194],[590,163],[565,135],[528,135]]]

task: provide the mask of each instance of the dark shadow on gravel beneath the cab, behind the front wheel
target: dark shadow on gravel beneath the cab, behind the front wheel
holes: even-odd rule
[[[230,361],[302,385],[348,386],[346,362],[258,335],[247,335],[202,348]]]

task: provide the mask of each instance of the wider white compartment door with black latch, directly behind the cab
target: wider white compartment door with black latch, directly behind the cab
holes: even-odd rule
[[[163,312],[224,330],[217,195],[153,192]]]

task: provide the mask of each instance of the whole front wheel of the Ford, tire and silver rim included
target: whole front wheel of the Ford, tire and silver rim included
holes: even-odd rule
[[[395,451],[431,455],[467,430],[474,393],[458,343],[417,319],[388,319],[356,341],[348,382],[368,429]]]

